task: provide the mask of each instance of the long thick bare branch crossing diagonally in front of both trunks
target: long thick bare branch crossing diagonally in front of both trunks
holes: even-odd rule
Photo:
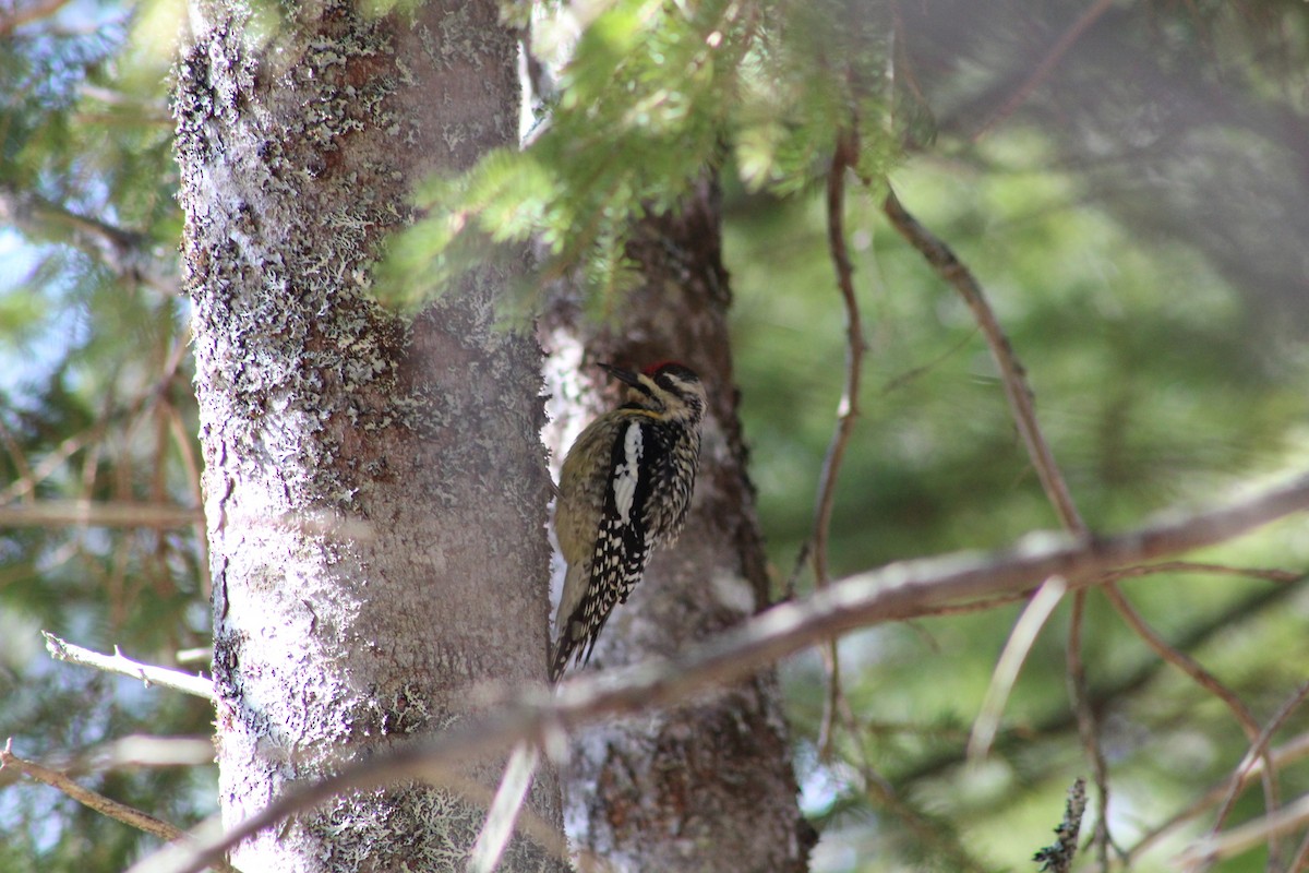
[[[547,738],[556,732],[601,717],[686,702],[699,691],[738,681],[833,633],[914,618],[961,599],[1025,590],[1055,575],[1073,588],[1088,585],[1097,573],[1114,567],[1213,546],[1305,509],[1309,509],[1309,475],[1220,509],[1174,517],[1126,534],[1072,542],[1042,534],[1000,552],[906,561],[860,573],[804,602],[783,603],[755,615],[673,661],[656,660],[580,677],[559,686],[554,699],[545,690],[524,691],[516,703],[470,719],[440,737],[351,764],[330,779],[302,784],[221,839],[206,842],[192,856],[152,864],[148,869],[194,873],[251,834],[342,791],[406,779],[442,780],[454,762],[504,750],[516,742],[548,749]]]

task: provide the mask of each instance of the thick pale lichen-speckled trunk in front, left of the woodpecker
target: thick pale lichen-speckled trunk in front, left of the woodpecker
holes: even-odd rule
[[[548,567],[539,349],[492,327],[505,276],[414,323],[368,296],[411,187],[514,141],[495,1],[242,8],[192,7],[175,106],[229,823],[542,681]],[[493,788],[495,762],[469,775]],[[559,822],[554,777],[531,804]],[[424,785],[356,793],[233,863],[462,870],[482,819]],[[507,864],[558,866],[526,840]]]

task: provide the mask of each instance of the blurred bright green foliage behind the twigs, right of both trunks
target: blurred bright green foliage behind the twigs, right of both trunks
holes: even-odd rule
[[[1049,169],[1054,161],[1039,131],[995,135],[977,166],[1001,161],[1000,173],[915,161],[893,183],[987,289],[1088,524],[1121,530],[1164,507],[1221,501],[1253,471],[1302,469],[1309,369],[1296,346],[1251,321],[1249,300],[1194,247],[1134,233],[1094,204],[1081,173]],[[810,533],[812,488],[844,368],[844,314],[819,195],[778,203],[737,191],[728,208],[742,415],[759,514],[784,577]],[[847,223],[870,351],[863,415],[836,490],[834,575],[995,548],[1058,527],[967,308],[895,234],[872,196],[853,199]],[[1300,568],[1305,551],[1295,530],[1288,524],[1195,559]],[[1302,624],[1278,610],[1302,603],[1302,584],[1175,573],[1127,590],[1165,639],[1215,668],[1261,719],[1302,682],[1293,666],[1309,657]],[[1063,607],[1024,666],[992,758],[963,766],[967,730],[1017,614],[992,610],[843,640],[844,690],[861,730],[838,732],[834,762],[814,763],[808,777],[819,787],[810,809],[831,851],[859,849],[848,863],[821,869],[898,869],[872,857],[936,869],[922,852],[950,846],[937,830],[929,846],[906,844],[914,814],[888,806],[863,776],[823,784],[833,772],[863,767],[919,811],[953,823],[973,859],[1028,869],[1028,856],[1058,821],[1063,792],[1088,764],[1068,711]],[[1094,598],[1085,639],[1092,687],[1115,702],[1105,743],[1121,809],[1182,806],[1230,772],[1244,739],[1224,707],[1165,669]],[[1276,665],[1264,661],[1270,650]],[[817,657],[788,665],[787,677],[792,716],[817,737]],[[1293,724],[1302,728],[1304,716]],[[1289,781],[1295,788],[1284,785],[1285,796],[1304,791],[1302,776]],[[1238,817],[1258,814],[1257,797],[1241,810]],[[1118,822],[1115,834],[1130,844],[1139,831]],[[1168,846],[1179,848],[1175,840]],[[1166,860],[1164,849],[1134,869],[1166,869]]]

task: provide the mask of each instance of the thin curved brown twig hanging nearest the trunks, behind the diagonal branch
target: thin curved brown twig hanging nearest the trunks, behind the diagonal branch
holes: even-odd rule
[[[855,431],[859,416],[859,387],[863,374],[864,325],[859,315],[859,298],[855,296],[855,275],[850,262],[850,249],[846,245],[846,173],[859,160],[859,135],[853,128],[836,136],[836,149],[831,156],[831,169],[827,171],[827,247],[831,251],[833,267],[836,272],[836,287],[846,308],[846,383],[840,393],[836,410],[836,429],[827,444],[827,454],[818,476],[818,499],[814,509],[814,529],[810,537],[810,555],[814,564],[814,586],[826,588],[827,577],[827,535],[831,530],[831,513],[836,503],[836,476],[840,471],[846,446]],[[833,734],[836,725],[836,711],[840,696],[840,657],[836,640],[823,647],[823,666],[827,671],[827,695],[823,704],[822,728],[818,732],[818,750],[826,757],[831,751]]]

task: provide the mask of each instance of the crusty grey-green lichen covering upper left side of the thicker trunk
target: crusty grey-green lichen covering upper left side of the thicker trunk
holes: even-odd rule
[[[220,389],[202,393],[202,428],[276,465],[288,507],[344,510],[360,467],[347,432],[399,423],[403,327],[368,292],[407,220],[406,173],[382,148],[402,76],[387,22],[350,4],[318,4],[314,27],[260,45],[247,20],[230,12],[177,67],[196,378]]]

